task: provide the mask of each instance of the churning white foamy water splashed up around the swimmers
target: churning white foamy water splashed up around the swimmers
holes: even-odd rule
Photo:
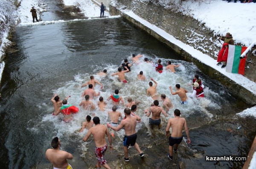
[[[128,59],[131,60],[131,56]],[[179,96],[175,95],[172,96],[170,93],[169,86],[172,86],[173,90],[176,91],[175,85],[178,83],[181,85],[181,87],[185,88],[186,90],[189,90],[190,93],[187,95],[190,96],[192,93],[192,86],[189,85],[189,83],[192,82],[192,76],[188,73],[187,68],[187,62],[184,61],[171,61],[174,64],[179,64],[180,66],[176,68],[176,73],[171,73],[169,71],[163,70],[163,73],[157,73],[155,71],[155,68],[151,65],[151,63],[145,63],[143,62],[144,57],[148,57],[149,60],[153,61],[154,63],[157,62],[159,58],[154,58],[153,56],[143,56],[140,58],[140,64],[133,64],[131,67],[131,72],[125,73],[125,78],[127,79],[128,83],[123,84],[122,82],[119,82],[118,77],[111,76],[112,73],[115,73],[117,71],[117,68],[119,65],[92,65],[92,67],[95,68],[93,73],[85,73],[85,74],[77,74],[74,76],[74,80],[70,82],[61,82],[63,83],[63,87],[60,87],[54,91],[52,91],[52,95],[54,93],[58,93],[61,99],[64,99],[66,96],[71,95],[71,97],[68,99],[68,104],[73,104],[77,107],[79,107],[79,103],[83,98],[81,98],[81,94],[83,90],[87,88],[83,87],[81,88],[81,84],[84,82],[87,82],[90,79],[91,75],[94,75],[94,78],[101,82],[103,84],[103,89],[100,90],[100,85],[96,84],[95,90],[96,93],[99,91],[100,96],[104,98],[106,101],[108,97],[114,93],[115,89],[119,89],[119,95],[122,96],[122,98],[125,101],[125,104],[128,103],[127,99],[128,97],[131,97],[133,100],[140,101],[139,104],[137,104],[137,115],[139,115],[142,118],[142,121],[137,124],[137,130],[140,130],[142,127],[147,128],[147,132],[149,135],[151,135],[151,129],[148,127],[148,117],[145,116],[144,110],[150,107],[150,104],[153,102],[153,99],[151,99],[150,96],[146,96],[146,90],[149,87],[148,82],[150,82],[150,78],[152,77],[157,82],[157,93],[159,94],[166,94],[166,96],[172,101],[172,104],[174,105],[173,109],[170,109],[168,114],[168,117],[164,117],[161,115],[162,118],[162,125],[166,125],[169,118],[174,117],[173,111],[175,109],[179,109],[182,113],[183,117],[188,117],[189,115],[193,115],[195,112],[200,112],[202,116],[205,116],[209,120],[212,118],[212,114],[209,113],[207,108],[209,109],[216,109],[218,108],[218,104],[215,103],[214,99],[215,97],[218,97],[218,94],[210,90],[208,87],[204,89],[205,91],[205,98],[196,99],[196,98],[190,98],[188,99],[187,105],[180,104],[180,98]],[[166,62],[170,59],[163,59],[162,63],[164,66],[166,66]],[[121,65],[121,63],[120,63]],[[97,73],[99,71],[102,71],[103,69],[108,70],[108,76],[99,76]],[[196,69],[194,65],[190,65],[190,69]],[[137,79],[137,74],[140,73],[140,71],[143,71],[143,74],[146,77],[145,81],[140,81]],[[202,79],[204,83],[204,79]],[[154,84],[154,83],[153,83]],[[206,84],[205,84],[206,85]],[[207,86],[207,85],[206,85]],[[99,97],[97,96],[93,99],[94,104],[97,105],[97,101],[99,101]],[[160,99],[160,97],[159,97]],[[163,101],[160,101],[160,106],[163,105]],[[79,107],[79,113],[73,115],[73,121],[66,123],[63,121],[63,115],[53,116],[51,113],[53,111],[53,107],[48,107],[47,115],[43,117],[43,122],[50,121],[53,124],[53,128],[57,132],[58,137],[71,137],[74,133],[82,140],[84,135],[87,133],[87,130],[84,130],[84,132],[79,133],[78,130],[81,128],[81,124],[83,121],[85,121],[86,115],[93,115],[95,113],[96,116],[99,116],[101,120],[101,124],[106,124],[109,122],[108,119],[108,111],[111,111],[113,104],[112,101],[107,101],[107,106],[105,112],[99,111],[99,107],[96,106],[96,110],[92,110],[91,112],[88,110],[84,110],[82,107]],[[42,109],[45,109],[45,106],[42,105]],[[117,111],[120,111],[123,114],[123,110],[125,108],[125,105],[120,105],[120,108]],[[123,115],[124,116],[124,115]],[[120,119],[121,120],[121,119]],[[121,130],[119,132],[115,132],[115,136],[120,138],[120,141],[122,140],[122,137],[124,135],[124,130]],[[120,142],[121,143],[121,142]],[[88,143],[82,143],[81,144],[81,150],[82,155],[85,156],[84,151],[87,151],[87,145]],[[116,148],[119,145],[115,145]]]

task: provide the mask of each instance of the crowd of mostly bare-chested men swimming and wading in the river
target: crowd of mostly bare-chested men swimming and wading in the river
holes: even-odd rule
[[[140,57],[143,55],[137,55],[135,54],[132,55],[132,60],[133,64],[139,64],[140,62]],[[149,63],[148,59],[145,58],[144,62]],[[125,73],[131,71],[131,66],[133,64],[130,64],[128,62],[128,59],[124,60],[124,63],[120,65],[118,68],[118,72],[113,73],[111,76],[118,75],[120,82],[127,83],[127,80],[125,79]],[[167,63],[168,65],[166,66],[166,70],[170,70],[171,72],[175,73],[175,68],[177,68],[179,65],[173,65],[170,61]],[[156,71],[159,73],[162,73],[163,70],[163,65],[161,65],[161,60],[159,59],[157,64],[151,63],[152,66],[156,67]],[[123,67],[123,70],[122,70]],[[107,75],[107,70],[103,70],[103,72],[98,73],[100,76],[106,76]],[[138,74],[137,78],[139,80],[145,80],[145,76],[143,75],[143,71]],[[173,108],[174,106],[172,105],[172,102],[170,99],[166,97],[165,94],[161,94],[161,100],[163,100],[163,107],[159,106],[159,101],[158,101],[158,94],[157,94],[157,82],[151,78],[151,80],[154,82],[154,86],[152,82],[149,82],[149,88],[147,89],[147,96],[151,96],[151,98],[154,100],[154,102],[151,104],[151,107],[145,110],[145,115],[150,116],[149,118],[149,125],[151,127],[153,126],[160,126],[161,123],[161,118],[160,114],[163,113],[164,116],[167,117],[167,113],[164,109],[169,111],[169,109]],[[90,99],[93,99],[94,96],[99,96],[100,92],[96,93],[94,90],[94,86],[96,84],[101,85],[101,88],[103,85],[98,82],[97,80],[94,79],[94,76],[90,76],[90,80],[84,84],[81,85],[81,87],[87,86],[88,88],[83,91],[82,97],[85,98],[85,100],[82,100],[79,106],[82,106],[84,109],[87,110],[92,110],[95,109],[96,106],[93,104]],[[198,96],[198,97],[204,97],[204,92],[203,88],[204,85],[201,84],[201,79],[199,79],[198,75],[195,75],[195,78],[193,79],[193,96]],[[175,85],[177,91],[173,92],[172,87],[170,86],[170,91],[172,95],[178,95],[181,99],[180,103],[181,104],[187,104],[187,96],[186,93],[188,92],[187,90],[183,89],[180,87],[179,84]],[[67,96],[63,101],[60,101],[59,96],[55,95],[51,101],[53,102],[54,105],[54,115],[58,115],[59,113],[62,113],[64,115],[64,121],[70,121],[72,120],[71,115],[72,113],[77,113],[78,108],[74,108],[73,105],[67,104],[67,100],[70,98],[70,96]],[[124,104],[124,100],[122,99],[122,96],[119,96],[119,90],[115,90],[115,93],[111,95],[108,99],[112,99],[113,107],[112,111],[108,112],[108,115],[110,117],[111,122],[107,124],[107,127],[113,129],[114,131],[119,131],[122,128],[125,130],[125,137],[123,139],[123,149],[125,153],[125,161],[129,161],[128,158],[128,147],[134,146],[137,152],[139,153],[140,157],[143,157],[144,154],[140,150],[139,145],[136,143],[137,139],[137,132],[135,130],[137,122],[140,122],[141,118],[136,115],[136,110],[137,110],[137,104],[139,103],[138,101],[132,101],[131,98],[128,98],[128,103],[125,104],[124,109],[124,115],[125,117],[122,119],[120,124],[118,123],[119,118],[122,117],[122,113],[119,111],[116,111],[119,103],[121,102]],[[62,105],[63,104],[63,105]],[[106,102],[103,100],[103,97],[99,97],[98,101],[98,107],[99,110],[105,111],[105,106]],[[71,107],[71,108],[70,108]],[[72,108],[73,107],[73,108]],[[66,109],[66,110],[65,110]],[[168,159],[172,161],[172,155],[173,155],[173,150],[176,153],[177,152],[177,146],[178,144],[181,143],[183,140],[182,136],[182,129],[183,127],[185,128],[186,136],[187,136],[187,142],[188,144],[191,142],[189,138],[189,132],[187,129],[186,125],[186,120],[185,118],[180,117],[180,110],[176,109],[174,111],[174,116],[175,118],[170,118],[166,127],[166,135],[169,135],[169,129],[172,127],[172,134],[169,137],[169,155]],[[93,127],[93,124],[95,126]],[[95,141],[95,154],[96,158],[98,160],[98,163],[96,165],[97,168],[100,168],[100,166],[104,166],[106,169],[110,169],[110,167],[107,164],[107,161],[104,158],[105,151],[108,148],[108,145],[105,140],[105,135],[108,137],[110,149],[112,149],[112,140],[111,140],[111,135],[113,136],[113,132],[110,134],[108,128],[105,125],[100,124],[100,119],[97,116],[93,117],[93,120],[91,120],[91,116],[87,115],[86,121],[83,122],[82,127],[80,132],[84,131],[85,128],[87,128],[88,132],[85,135],[83,141],[87,141],[87,139],[90,137],[90,135],[93,135],[93,139]],[[72,159],[73,156],[70,153],[61,151],[60,148],[60,140],[56,137],[52,140],[52,148],[53,149],[48,149],[46,152],[46,158],[53,163],[54,169],[61,169],[61,168],[68,168],[71,167],[70,164],[67,163],[67,159]],[[58,158],[58,159],[56,159]]]

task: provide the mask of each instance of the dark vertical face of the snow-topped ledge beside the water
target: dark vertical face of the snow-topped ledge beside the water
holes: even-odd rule
[[[220,82],[220,85],[223,85],[223,86],[227,87],[227,89],[230,90],[230,92],[232,93],[232,95],[234,97],[239,98],[239,99],[245,101],[247,104],[250,104],[251,106],[255,106],[256,105],[256,93],[252,93],[251,91],[247,90],[243,86],[237,84],[236,82],[234,82],[233,80],[228,78],[227,76],[224,76],[218,70],[215,70],[214,68],[211,68],[208,65],[205,65],[200,60],[195,59],[194,57],[192,57],[191,54],[189,54],[188,52],[184,51],[179,46],[173,44],[172,42],[168,41],[164,37],[161,37],[155,31],[153,31],[152,29],[146,27],[145,25],[143,25],[142,23],[138,22],[134,18],[132,18],[132,17],[126,15],[126,14],[123,14],[121,11],[119,11],[119,9],[117,9],[117,8],[115,8],[113,6],[109,6],[109,12],[110,12],[111,15],[121,15],[123,18],[125,18],[126,20],[130,21],[131,23],[133,23],[135,26],[137,26],[137,27],[141,28],[142,30],[148,32],[148,34],[150,34],[151,36],[155,37],[160,42],[163,42],[166,45],[168,45],[170,48],[172,48],[178,54],[183,56],[183,58],[187,62],[193,62],[204,74],[207,74],[207,76],[209,76],[210,78],[215,79],[218,82]]]

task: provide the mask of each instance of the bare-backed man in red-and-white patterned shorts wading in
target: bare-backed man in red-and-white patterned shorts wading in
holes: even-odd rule
[[[93,118],[94,127],[90,128],[85,135],[83,141],[87,141],[90,135],[93,135],[93,139],[95,142],[95,155],[98,160],[97,169],[100,168],[100,165],[104,166],[106,169],[110,169],[107,164],[107,161],[104,158],[104,154],[108,148],[107,142],[105,140],[105,135],[108,137],[109,146],[112,150],[112,140],[108,132],[108,128],[105,125],[99,124],[99,117]]]

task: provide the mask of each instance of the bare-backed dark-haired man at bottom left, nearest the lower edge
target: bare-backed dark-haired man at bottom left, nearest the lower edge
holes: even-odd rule
[[[73,169],[72,166],[67,163],[67,159],[72,160],[73,155],[60,150],[60,139],[58,139],[58,137],[53,138],[51,145],[53,149],[47,149],[45,158],[52,163],[53,169]]]

